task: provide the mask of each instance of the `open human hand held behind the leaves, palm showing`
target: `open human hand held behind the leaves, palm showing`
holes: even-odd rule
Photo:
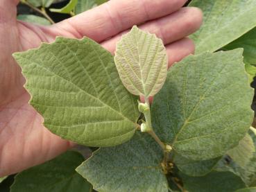
[[[185,0],[111,0],[52,26],[16,20],[19,0],[0,1],[0,177],[56,157],[74,144],[52,134],[42,116],[28,105],[21,69],[12,53],[53,42],[57,35],[87,36],[114,52],[115,44],[133,25],[162,38],[169,66],[194,52],[186,36],[201,24],[197,8],[181,8]]]

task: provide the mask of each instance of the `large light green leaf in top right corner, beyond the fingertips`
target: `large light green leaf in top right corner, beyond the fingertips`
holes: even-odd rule
[[[221,49],[256,26],[256,1],[193,0],[189,6],[203,10],[203,25],[190,36],[196,53]]]

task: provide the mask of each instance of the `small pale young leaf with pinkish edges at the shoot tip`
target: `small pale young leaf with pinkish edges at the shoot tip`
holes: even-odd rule
[[[137,26],[117,43],[114,62],[123,85],[135,95],[155,95],[167,76],[167,53],[162,40]]]

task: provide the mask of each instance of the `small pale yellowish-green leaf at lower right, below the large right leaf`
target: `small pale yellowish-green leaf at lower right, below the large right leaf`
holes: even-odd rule
[[[250,158],[253,157],[255,153],[255,146],[253,139],[249,134],[246,134],[246,137],[239,141],[239,145],[231,150],[228,150],[227,154],[236,162],[239,166],[245,167]]]

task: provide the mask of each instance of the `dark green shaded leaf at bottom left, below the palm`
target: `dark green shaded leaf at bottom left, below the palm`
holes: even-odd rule
[[[92,185],[75,171],[83,161],[84,158],[80,153],[65,152],[56,159],[17,174],[11,192],[92,191]]]

